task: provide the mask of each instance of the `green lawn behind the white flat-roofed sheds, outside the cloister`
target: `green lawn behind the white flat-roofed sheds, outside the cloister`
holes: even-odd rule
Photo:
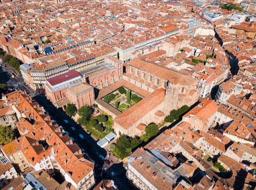
[[[90,118],[90,120],[92,120],[93,117]],[[97,118],[96,118],[97,119]],[[90,124],[88,124],[87,126],[87,130],[96,138],[96,139],[102,139],[103,137],[105,137],[106,135],[108,135],[108,133],[110,132],[114,132],[114,129],[112,128],[112,125],[114,124],[112,117],[108,116],[108,121],[103,122],[104,126],[106,127],[106,130],[103,131],[102,133],[100,133],[99,131],[97,131],[95,128],[93,128]]]

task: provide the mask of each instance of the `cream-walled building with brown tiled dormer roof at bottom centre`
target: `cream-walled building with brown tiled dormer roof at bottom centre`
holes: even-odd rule
[[[180,176],[155,157],[152,153],[138,148],[128,157],[126,176],[139,189],[172,189]]]

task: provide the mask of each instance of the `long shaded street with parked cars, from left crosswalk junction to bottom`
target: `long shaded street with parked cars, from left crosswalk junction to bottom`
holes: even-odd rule
[[[126,170],[123,167],[123,163],[119,163],[119,160],[114,157],[110,152],[107,152],[105,149],[100,148],[97,145],[97,139],[94,139],[90,133],[83,129],[79,124],[77,124],[71,117],[69,117],[65,112],[59,113],[59,111],[49,102],[43,93],[34,92],[32,88],[25,85],[24,80],[21,75],[18,75],[17,71],[14,68],[11,68],[8,64],[6,66],[0,66],[1,73],[1,83],[7,84],[6,93],[11,93],[17,90],[25,90],[27,93],[33,97],[36,102],[40,106],[52,116],[59,126],[62,126],[63,130],[67,131],[70,134],[70,137],[73,137],[75,143],[84,150],[84,152],[89,156],[89,158],[95,162],[95,166],[99,165],[100,170],[94,169],[95,171],[95,180],[96,184],[99,183],[102,179],[112,179],[115,181],[115,184],[118,186],[120,190],[135,190],[134,186],[130,184],[129,180],[126,178]],[[14,74],[13,74],[14,73]],[[15,75],[15,77],[11,77],[11,75]],[[67,120],[68,124],[63,122],[63,120]],[[74,127],[75,130],[72,130],[71,127]],[[79,138],[79,134],[84,136],[84,139]],[[104,160],[102,160],[99,155],[108,159],[108,155],[110,155],[109,160],[110,164],[106,164]],[[118,172],[118,176],[111,176],[111,172],[113,171],[121,171]]]

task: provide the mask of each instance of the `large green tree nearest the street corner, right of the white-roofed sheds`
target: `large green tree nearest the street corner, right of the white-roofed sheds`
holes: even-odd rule
[[[128,157],[131,153],[131,143],[126,135],[121,135],[117,139],[117,148],[119,150],[119,156],[121,159]]]

